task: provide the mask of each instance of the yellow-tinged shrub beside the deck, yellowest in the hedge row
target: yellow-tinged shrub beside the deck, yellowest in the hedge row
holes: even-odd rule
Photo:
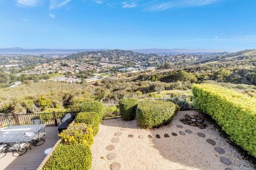
[[[90,147],[93,144],[92,127],[85,123],[70,124],[59,136],[66,145],[83,144]]]

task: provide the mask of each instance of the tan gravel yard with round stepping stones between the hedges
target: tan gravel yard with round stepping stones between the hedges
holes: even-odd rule
[[[153,130],[140,129],[135,120],[103,120],[92,146],[92,169],[108,170],[113,163],[112,170],[254,169],[212,125],[207,124],[207,128],[202,130],[180,122],[179,118],[186,113],[179,112],[171,124]],[[199,137],[198,132],[205,137]],[[207,139],[215,145],[206,142]],[[230,160],[230,165],[225,158]]]

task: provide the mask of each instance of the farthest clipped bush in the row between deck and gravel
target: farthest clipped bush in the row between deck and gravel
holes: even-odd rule
[[[102,120],[103,113],[103,104],[100,101],[84,101],[78,106],[79,112],[96,112],[100,115]]]

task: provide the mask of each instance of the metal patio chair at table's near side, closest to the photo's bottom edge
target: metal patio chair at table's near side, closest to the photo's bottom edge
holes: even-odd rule
[[[28,151],[28,146],[30,148],[30,143],[28,142],[12,143],[12,145],[9,146],[9,151],[12,152],[12,156],[19,157],[21,155],[26,154],[26,152]]]

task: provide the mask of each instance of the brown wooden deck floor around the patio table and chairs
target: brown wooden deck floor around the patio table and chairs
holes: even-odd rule
[[[41,146],[34,147],[31,145],[31,150],[20,157],[13,157],[12,153],[7,153],[5,157],[0,159],[0,169],[4,170],[35,170],[42,163],[46,155],[44,151],[52,148],[60,139],[58,137],[58,130],[56,126],[46,126],[45,143]]]

